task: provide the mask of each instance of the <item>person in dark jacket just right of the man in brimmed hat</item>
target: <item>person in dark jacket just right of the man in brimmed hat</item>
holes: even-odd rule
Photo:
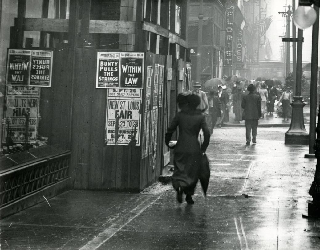
[[[213,89],[209,92],[208,97],[208,104],[209,104],[209,117],[211,121],[207,121],[210,134],[213,133],[213,128],[216,125],[218,117],[221,117],[222,113],[222,104],[218,96],[215,95],[215,91]]]

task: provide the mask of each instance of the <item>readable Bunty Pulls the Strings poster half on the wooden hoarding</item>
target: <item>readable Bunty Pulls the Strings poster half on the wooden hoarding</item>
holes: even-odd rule
[[[96,88],[119,88],[120,53],[98,52]]]

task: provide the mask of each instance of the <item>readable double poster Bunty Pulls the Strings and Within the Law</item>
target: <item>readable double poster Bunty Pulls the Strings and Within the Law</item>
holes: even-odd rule
[[[143,88],[144,53],[98,52],[96,88]]]

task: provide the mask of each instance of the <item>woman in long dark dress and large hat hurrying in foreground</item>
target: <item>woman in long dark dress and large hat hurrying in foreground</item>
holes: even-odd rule
[[[181,101],[182,100],[182,101]],[[165,144],[174,148],[174,172],[172,186],[177,191],[177,200],[182,203],[182,194],[186,194],[188,204],[194,204],[192,195],[198,181],[198,170],[201,164],[202,153],[205,152],[210,141],[210,132],[205,121],[205,116],[196,107],[200,103],[197,95],[189,94],[177,98],[181,109],[173,118],[165,134]],[[176,145],[172,145],[172,134],[179,127],[179,138]],[[202,129],[204,142],[202,146],[198,141],[199,132]]]

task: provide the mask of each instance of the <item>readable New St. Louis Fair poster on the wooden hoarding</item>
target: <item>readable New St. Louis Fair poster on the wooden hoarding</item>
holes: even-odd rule
[[[107,100],[106,137],[107,145],[128,145],[132,139],[140,146],[141,99]]]

